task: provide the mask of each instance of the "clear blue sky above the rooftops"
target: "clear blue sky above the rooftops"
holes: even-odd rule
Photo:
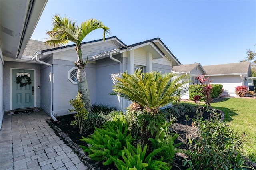
[[[126,45],[158,37],[182,64],[237,63],[256,50],[256,0],[48,0],[31,39],[48,38],[54,14],[100,20]]]

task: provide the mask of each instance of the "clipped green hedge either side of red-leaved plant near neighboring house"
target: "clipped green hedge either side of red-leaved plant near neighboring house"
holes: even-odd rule
[[[212,90],[211,90],[211,98],[216,98],[218,97],[221,92],[222,92],[222,85],[221,84],[214,84],[211,85],[212,86]],[[200,101],[204,101],[204,97],[203,94],[200,92],[203,89],[203,85],[189,85],[189,99],[190,100],[194,100],[194,96],[195,95],[200,95],[202,98],[200,99]]]

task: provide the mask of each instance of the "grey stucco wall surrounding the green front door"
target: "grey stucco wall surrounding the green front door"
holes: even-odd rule
[[[10,68],[14,69],[35,69],[35,95],[36,95],[36,107],[41,107],[41,89],[36,88],[40,86],[40,64],[35,63],[21,63],[21,62],[5,62],[4,67],[4,110],[10,110]]]

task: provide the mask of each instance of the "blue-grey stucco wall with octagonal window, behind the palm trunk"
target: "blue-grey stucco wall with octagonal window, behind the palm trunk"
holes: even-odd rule
[[[70,114],[69,101],[77,95],[77,84],[68,80],[68,71],[74,67],[73,61],[53,60],[54,86],[53,86],[53,115],[60,116]],[[89,86],[91,103],[95,102],[95,64],[87,63],[86,79]]]

